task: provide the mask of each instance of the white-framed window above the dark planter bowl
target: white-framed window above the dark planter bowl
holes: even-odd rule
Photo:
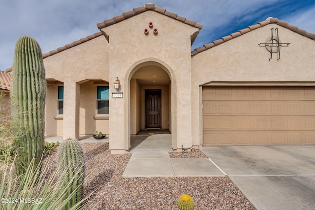
[[[97,86],[96,114],[109,114],[109,87]]]

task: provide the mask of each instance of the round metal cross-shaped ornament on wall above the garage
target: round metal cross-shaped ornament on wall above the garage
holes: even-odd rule
[[[269,61],[272,59],[272,54],[277,53],[278,60],[280,59],[280,47],[288,47],[290,43],[281,43],[279,40],[278,28],[275,29],[276,36],[274,36],[274,28],[271,29],[271,39],[269,42],[259,43],[259,47],[266,47],[270,52]]]

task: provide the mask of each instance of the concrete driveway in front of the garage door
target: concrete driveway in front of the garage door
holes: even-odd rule
[[[203,147],[258,210],[315,209],[315,146]]]

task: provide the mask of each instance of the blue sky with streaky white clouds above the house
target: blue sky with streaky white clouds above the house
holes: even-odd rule
[[[192,50],[268,17],[315,33],[314,0],[1,0],[0,70],[12,66],[22,35],[34,37],[47,53],[98,32],[97,23],[149,2],[203,25]]]

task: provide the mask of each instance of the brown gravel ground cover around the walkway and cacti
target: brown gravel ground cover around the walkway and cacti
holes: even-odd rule
[[[81,145],[89,177],[85,194],[95,192],[87,210],[178,210],[176,203],[182,194],[192,197],[194,210],[255,210],[228,177],[122,178],[131,154],[110,154],[108,143]]]

